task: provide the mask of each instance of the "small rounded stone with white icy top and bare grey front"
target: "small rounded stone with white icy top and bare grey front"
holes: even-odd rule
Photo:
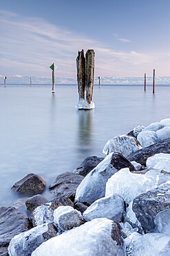
[[[54,210],[54,223],[57,224],[61,232],[81,226],[84,223],[81,212],[72,206],[59,206]]]

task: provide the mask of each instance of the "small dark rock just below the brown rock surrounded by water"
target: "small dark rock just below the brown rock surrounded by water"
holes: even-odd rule
[[[30,197],[27,201],[25,201],[25,205],[28,211],[32,212],[36,207],[42,205],[43,203],[47,203],[47,199],[41,194],[36,194],[35,196]]]

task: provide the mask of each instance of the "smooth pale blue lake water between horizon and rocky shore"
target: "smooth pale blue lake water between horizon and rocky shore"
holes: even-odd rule
[[[104,156],[107,140],[170,118],[170,86],[94,86],[95,109],[75,108],[76,85],[0,86],[0,206],[19,199],[10,188],[28,173],[50,185],[87,156]],[[47,194],[47,190],[43,193]]]

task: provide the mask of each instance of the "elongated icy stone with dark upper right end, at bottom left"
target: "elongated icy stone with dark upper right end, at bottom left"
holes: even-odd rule
[[[10,241],[10,256],[30,256],[44,241],[56,236],[56,228],[52,223],[45,223],[28,231],[21,232]]]

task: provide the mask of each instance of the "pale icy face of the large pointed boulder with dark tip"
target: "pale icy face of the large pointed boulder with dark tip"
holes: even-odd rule
[[[75,201],[94,203],[97,199],[105,196],[105,185],[107,180],[116,172],[116,168],[111,165],[111,156],[103,159],[87,176],[81,181],[76,190]]]

